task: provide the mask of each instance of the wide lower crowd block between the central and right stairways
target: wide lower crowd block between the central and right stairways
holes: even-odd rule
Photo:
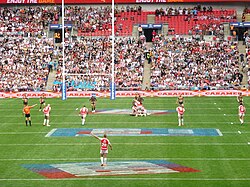
[[[154,89],[238,89],[240,55],[237,43],[160,38],[152,50]]]

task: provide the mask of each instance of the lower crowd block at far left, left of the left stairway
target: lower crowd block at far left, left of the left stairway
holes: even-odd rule
[[[53,39],[0,38],[0,91],[43,91],[53,58]]]

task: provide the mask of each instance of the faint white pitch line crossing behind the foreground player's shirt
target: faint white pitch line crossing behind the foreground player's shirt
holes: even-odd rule
[[[247,143],[112,143],[113,145],[174,145],[174,146],[246,146],[248,145]],[[0,144],[0,146],[88,146],[88,145],[99,145],[99,143],[54,143],[54,144]]]

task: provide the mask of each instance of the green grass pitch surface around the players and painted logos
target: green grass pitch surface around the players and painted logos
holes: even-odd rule
[[[97,110],[130,109],[132,98],[98,98]],[[246,108],[250,99],[244,98]],[[26,127],[21,99],[0,102],[0,186],[250,186],[250,117],[245,125],[238,120],[235,97],[185,98],[185,127],[217,128],[218,137],[112,137],[109,162],[117,160],[167,160],[200,170],[195,173],[105,176],[50,180],[23,168],[22,164],[99,162],[99,143],[93,137],[45,137],[53,128],[81,128],[75,108],[88,98],[47,99],[52,106],[51,127],[43,127],[38,106],[31,111],[32,127]],[[147,109],[176,108],[176,98],[145,98]],[[39,103],[30,99],[29,104]],[[233,123],[233,124],[231,124]],[[179,128],[177,114],[132,117],[88,115],[86,128]],[[241,134],[238,133],[241,132]],[[134,144],[125,144],[129,142]],[[148,143],[148,144],[147,144]]]

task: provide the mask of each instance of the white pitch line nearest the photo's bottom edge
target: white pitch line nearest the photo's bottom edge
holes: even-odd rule
[[[60,179],[1,179],[0,181],[250,181],[250,178],[152,178],[152,177],[84,177],[84,178],[60,178]]]

